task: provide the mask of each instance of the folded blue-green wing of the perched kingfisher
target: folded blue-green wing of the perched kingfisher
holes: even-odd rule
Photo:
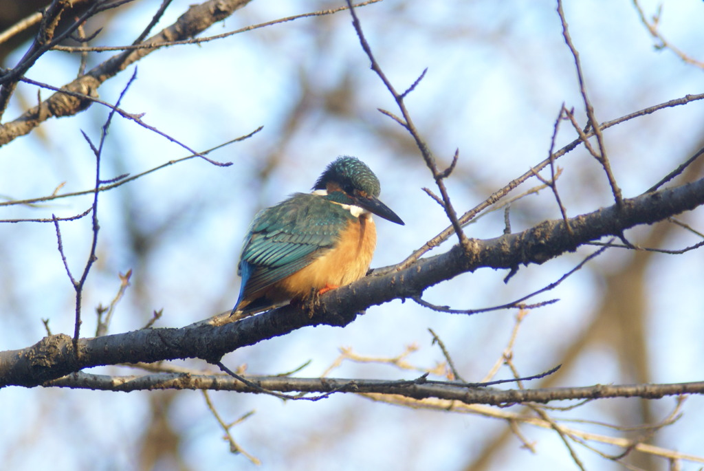
[[[352,218],[341,205],[313,194],[294,194],[261,211],[242,249],[239,301],[256,298],[259,291],[305,268],[332,248]]]

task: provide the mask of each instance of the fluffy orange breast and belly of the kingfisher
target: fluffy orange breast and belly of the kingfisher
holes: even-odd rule
[[[314,289],[341,287],[367,274],[377,244],[377,229],[370,214],[353,218],[332,249],[313,263],[278,283],[276,290],[289,298],[305,298]],[[277,296],[278,297],[278,296]]]

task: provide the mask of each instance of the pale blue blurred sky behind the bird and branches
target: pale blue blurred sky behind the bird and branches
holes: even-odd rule
[[[155,28],[170,25],[189,3],[174,1]],[[372,49],[394,83],[406,89],[427,68],[408,96],[408,109],[439,162],[447,165],[458,149],[457,170],[447,181],[451,199],[464,212],[496,189],[522,175],[548,155],[555,118],[565,103],[584,125],[574,61],[562,39],[553,1],[477,0],[404,2],[384,0],[358,10]],[[659,4],[640,2],[650,18]],[[253,1],[206,34],[220,34],[287,15],[334,8],[333,1]],[[153,15],[154,2],[136,2],[101,32],[100,44],[129,44]],[[586,86],[598,120],[701,92],[700,68],[668,49],[659,49],[629,1],[565,1],[570,33],[580,51]],[[662,1],[662,34],[696,57],[704,4]],[[18,61],[16,51],[9,63]],[[111,52],[89,56],[88,67]],[[704,58],[699,57],[700,61]],[[34,80],[61,86],[73,80],[77,57],[51,52],[27,73]],[[100,87],[101,99],[115,102],[132,75],[136,79],[120,106],[145,113],[144,121],[198,150],[263,130],[250,139],[209,154],[227,168],[191,159],[142,177],[101,195],[99,260],[84,295],[82,332],[93,335],[94,308],[105,306],[119,287],[118,272],[132,269],[132,286],[120,301],[111,332],[142,327],[153,310],[164,310],[158,327],[180,327],[232,307],[239,292],[237,259],[253,215],[295,191],[308,191],[325,165],[339,155],[363,158],[379,177],[382,201],[406,221],[405,227],[377,221],[378,244],[372,267],[398,263],[443,230],[448,222],[422,187],[433,188],[420,153],[393,120],[377,111],[394,108],[389,92],[369,68],[348,13],[303,18],[236,34],[201,45],[162,49],[130,66]],[[49,92],[42,92],[42,97]],[[5,119],[33,103],[37,92],[20,85]],[[0,149],[0,194],[25,199],[60,191],[89,189],[95,159],[81,131],[94,142],[108,111],[94,105],[71,119],[50,120],[37,132]],[[701,135],[704,105],[668,108],[605,132],[612,168],[624,196],[641,194],[662,175],[686,160]],[[559,148],[575,137],[567,123],[556,137]],[[188,152],[139,125],[115,117],[102,160],[105,179],[134,175]],[[584,149],[560,161],[560,191],[570,216],[612,204],[603,172]],[[547,175],[547,174],[543,174]],[[539,184],[524,184],[515,194]],[[513,195],[513,194],[512,194]],[[37,208],[0,208],[0,218],[46,218],[74,215],[90,206],[89,197],[63,199]],[[512,204],[512,230],[559,218],[549,191]],[[701,211],[686,216],[701,230]],[[698,223],[698,225],[697,225]],[[4,224],[0,227],[0,348],[24,348],[52,332],[73,332],[74,291],[56,249],[53,225]],[[491,238],[503,232],[503,211],[489,213],[467,228],[470,237]],[[89,220],[65,222],[61,234],[70,270],[80,273],[87,258]],[[643,232],[630,237],[638,241]],[[677,249],[697,241],[674,232],[665,241]],[[434,253],[450,248],[446,242]],[[506,272],[477,270],[425,291],[427,301],[453,308],[482,308],[516,299],[557,280],[596,250],[579,249],[541,266],[522,268],[509,284]],[[544,299],[560,302],[532,310],[514,346],[523,375],[555,366],[555,360],[583,332],[605,280],[627,263],[630,253],[612,249]],[[701,251],[683,256],[658,255],[647,267],[642,320],[653,382],[700,381],[704,328],[700,287]],[[629,293],[624,293],[628,296]],[[420,368],[442,362],[427,329],[444,340],[465,379],[479,380],[501,358],[515,325],[515,312],[474,316],[436,313],[413,301],[370,308],[344,329],[316,327],[241,348],[225,357],[229,365],[246,364],[251,374],[271,375],[310,365],[298,373],[316,377],[351,347],[360,356],[394,357],[417,346],[409,361]],[[93,332],[93,333],[92,333]],[[632,381],[604,341],[588,348],[560,377],[561,386]],[[203,362],[185,362],[206,368]],[[126,368],[96,372],[130,374]],[[333,377],[408,378],[419,373],[389,365],[347,361]],[[510,377],[501,368],[497,377]],[[237,441],[263,461],[260,469],[311,470],[465,469],[505,428],[501,420],[409,410],[338,395],[316,403],[255,396],[212,394],[227,420],[256,410],[234,427]],[[168,422],[180,433],[180,451],[193,470],[253,468],[232,456],[222,432],[198,391],[110,393],[56,389],[6,388],[0,391],[0,463],[8,469],[135,469],[150,401],[168,398]],[[674,399],[659,401],[663,417]],[[615,421],[626,400],[601,401],[562,417]],[[658,436],[659,446],[697,454],[704,440],[702,401],[686,401],[683,417]],[[625,415],[625,414],[624,414]],[[657,419],[656,419],[657,420]],[[637,425],[637,424],[633,424]],[[593,425],[585,429],[610,433]],[[510,439],[505,453],[489,469],[570,469],[569,453],[554,432],[524,427],[536,453]],[[29,453],[41,446],[44,453]],[[110,450],[110,458],[106,451]],[[615,453],[615,448],[605,448]],[[587,469],[620,469],[578,447]],[[658,462],[665,467],[664,462]],[[699,469],[684,463],[683,470]],[[172,469],[161,463],[155,469]]]

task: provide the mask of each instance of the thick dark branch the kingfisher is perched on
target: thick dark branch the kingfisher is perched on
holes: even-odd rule
[[[409,268],[365,277],[321,296],[309,315],[301,306],[284,306],[267,313],[224,324],[222,319],[181,329],[144,329],[94,339],[80,339],[78,354],[70,337],[58,334],[18,351],[0,352],[0,387],[34,387],[70,372],[99,365],[203,358],[211,362],[242,346],[315,325],[344,326],[370,306],[417,296],[424,289],[477,268],[517,268],[543,263],[580,244],[621,234],[636,225],[652,224],[704,204],[704,179],[680,187],[624,199],[568,220],[541,224],[496,239],[470,239],[468,250],[453,246],[446,253],[417,260]]]

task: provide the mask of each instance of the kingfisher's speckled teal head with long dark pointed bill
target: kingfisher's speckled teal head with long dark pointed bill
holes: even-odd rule
[[[327,165],[313,190],[325,191],[327,197],[336,203],[358,206],[386,220],[405,225],[394,211],[379,201],[381,187],[377,175],[356,157],[338,157]]]

